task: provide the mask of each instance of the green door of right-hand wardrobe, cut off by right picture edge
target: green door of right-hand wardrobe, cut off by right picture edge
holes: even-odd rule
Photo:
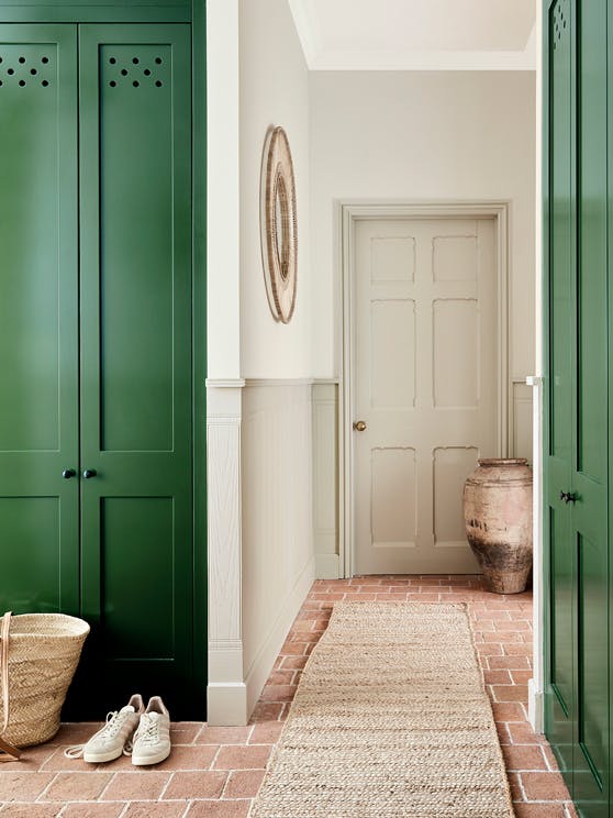
[[[606,0],[578,4],[576,432],[577,560],[573,798],[609,816]]]

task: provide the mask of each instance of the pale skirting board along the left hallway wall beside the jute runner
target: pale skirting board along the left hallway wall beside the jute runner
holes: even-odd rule
[[[247,687],[247,718],[252,715],[253,709],[257,704],[261,688],[270,675],[270,671],[275,665],[275,660],[279,655],[279,651],[281,650],[292,622],[296,619],[296,615],[300,610],[306,594],[311,590],[314,578],[315,560],[314,557],[311,557],[300,573],[293,588],[286,597],[282,608],[279,610],[279,616],[275,620],[268,637],[264,641],[247,673],[245,679]],[[243,723],[247,722],[245,721]]]

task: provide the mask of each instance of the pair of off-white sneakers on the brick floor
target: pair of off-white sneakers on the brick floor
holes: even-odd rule
[[[131,755],[136,766],[159,764],[170,755],[170,716],[159,696],[153,696],[147,707],[140,693],[125,707],[110,712],[107,723],[85,744],[65,751],[69,759],[90,764]]]

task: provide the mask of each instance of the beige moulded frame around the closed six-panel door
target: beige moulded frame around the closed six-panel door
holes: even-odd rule
[[[343,576],[353,576],[354,568],[354,463],[352,423],[355,420],[355,389],[353,373],[354,350],[354,275],[355,275],[355,223],[365,219],[436,219],[493,218],[495,220],[495,261],[498,274],[498,452],[506,456],[513,433],[513,406],[509,387],[509,219],[506,201],[381,201],[354,200],[336,202],[336,235],[338,266],[341,270],[338,310],[338,570]]]

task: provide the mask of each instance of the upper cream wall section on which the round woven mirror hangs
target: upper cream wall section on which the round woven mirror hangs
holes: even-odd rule
[[[310,377],[309,73],[287,0],[241,0],[241,357],[243,377]],[[261,151],[270,125],[286,129],[298,199],[298,298],[291,322],[268,308],[259,240]]]

